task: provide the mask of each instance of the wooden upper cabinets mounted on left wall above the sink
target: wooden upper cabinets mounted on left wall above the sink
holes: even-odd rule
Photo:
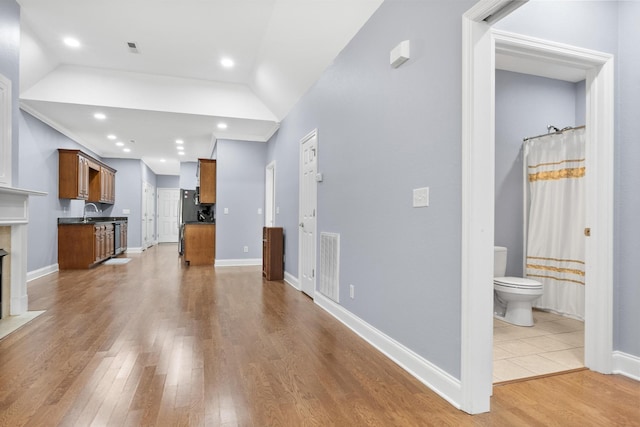
[[[80,150],[59,149],[58,197],[115,203],[116,170]]]

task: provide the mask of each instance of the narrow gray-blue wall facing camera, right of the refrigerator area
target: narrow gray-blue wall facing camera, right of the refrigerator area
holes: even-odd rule
[[[263,142],[218,140],[218,260],[262,258],[266,152]],[[228,214],[224,214],[225,208]],[[244,246],[249,252],[243,251]]]

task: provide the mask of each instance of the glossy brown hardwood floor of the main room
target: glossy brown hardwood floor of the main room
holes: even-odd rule
[[[470,416],[260,267],[129,256],[29,284],[46,312],[0,341],[0,425],[640,425],[640,383],[590,371],[495,387]]]

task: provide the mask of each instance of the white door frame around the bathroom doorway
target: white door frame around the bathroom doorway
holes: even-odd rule
[[[613,355],[613,56],[494,30],[483,20],[487,5],[495,3],[481,0],[463,16],[462,26],[460,405],[472,414],[489,411],[492,394],[497,50],[585,71],[589,171],[585,208],[586,224],[592,230],[585,248],[586,277],[592,284],[585,287],[585,366],[610,373]]]

